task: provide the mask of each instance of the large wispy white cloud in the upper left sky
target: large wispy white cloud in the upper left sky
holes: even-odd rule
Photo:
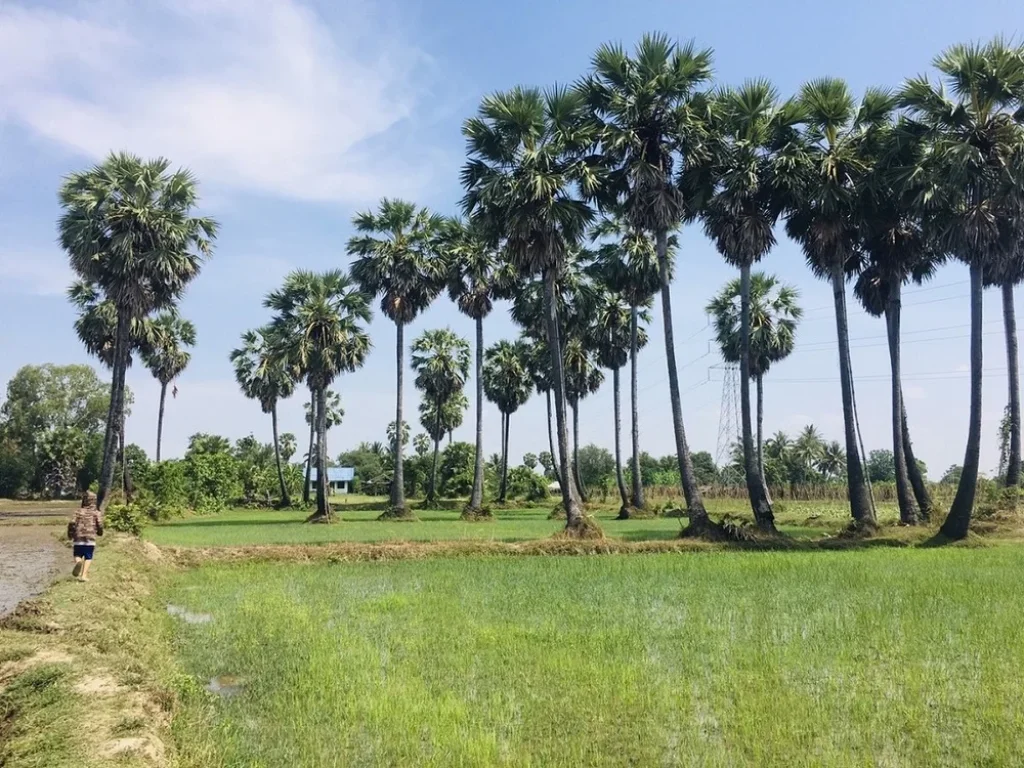
[[[372,152],[429,59],[378,12],[296,0],[14,4],[0,114],[90,159],[163,155],[215,185],[313,201],[412,194],[429,167]],[[422,157],[422,155],[420,156]]]

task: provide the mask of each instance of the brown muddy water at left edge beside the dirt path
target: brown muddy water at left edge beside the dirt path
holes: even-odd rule
[[[63,566],[71,569],[71,550],[50,525],[0,526],[0,616],[19,602],[43,592]]]

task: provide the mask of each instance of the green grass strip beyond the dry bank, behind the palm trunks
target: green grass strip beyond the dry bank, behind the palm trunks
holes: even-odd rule
[[[551,507],[554,506],[554,501]],[[384,502],[359,499],[349,505],[337,504],[339,521],[333,525],[308,525],[300,511],[234,509],[205,517],[190,516],[153,525],[145,537],[157,545],[182,547],[233,547],[242,545],[323,544],[328,542],[426,542],[493,540],[521,542],[543,539],[560,530],[564,523],[549,520],[550,507],[499,509],[492,522],[463,522],[454,510],[418,510],[419,522],[378,521]],[[750,506],[741,500],[711,500],[715,516],[730,514],[750,518]],[[604,532],[614,539],[645,541],[679,536],[685,520],[662,517],[643,520],[615,520],[617,508],[595,505],[595,516]],[[776,519],[793,537],[820,536],[838,530],[849,522],[849,507],[840,502],[788,502]],[[883,522],[898,519],[895,505],[879,507]]]

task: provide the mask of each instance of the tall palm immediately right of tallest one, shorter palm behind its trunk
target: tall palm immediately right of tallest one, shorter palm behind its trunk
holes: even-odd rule
[[[714,194],[701,212],[705,231],[719,253],[739,267],[739,408],[743,472],[754,519],[762,530],[775,529],[771,499],[755,453],[751,419],[751,267],[775,245],[774,227],[783,209],[776,180],[778,166],[788,161],[800,118],[793,99],[779,103],[766,80],[726,88],[715,110],[716,178]]]

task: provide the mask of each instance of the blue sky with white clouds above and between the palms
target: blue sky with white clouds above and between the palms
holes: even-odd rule
[[[66,174],[111,151],[164,156],[196,173],[199,212],[221,225],[214,257],[181,303],[199,343],[177,396],[168,399],[164,455],[182,454],[200,431],[269,441],[268,418],[242,396],[228,361],[240,335],[268,319],[263,296],[292,269],[345,268],[352,216],[381,197],[456,213],[465,159],[460,129],[482,96],[517,84],[571,82],[601,43],[632,46],[649,31],[714,48],[720,83],[766,77],[793,93],[806,80],[836,76],[859,93],[928,73],[950,44],[1019,37],[1024,5],[0,0],[0,383],[28,364],[98,368],[72,327],[65,293],[73,275],[56,244],[56,189]],[[796,351],[766,378],[765,429],[793,434],[814,424],[842,440],[830,291],[784,234],[762,267],[795,286],[805,308]],[[725,372],[703,307],[732,276],[699,226],[684,230],[672,289],[683,416],[691,449],[713,456],[731,437],[720,439]],[[964,459],[967,281],[967,268],[952,263],[904,298],[906,407],[914,451],[935,479]],[[868,451],[891,446],[885,328],[852,295],[850,313],[863,440]],[[981,464],[989,472],[1007,401],[1000,318],[998,293],[986,292]],[[655,308],[639,362],[641,444],[655,456],[674,451],[662,322]],[[472,339],[471,321],[444,297],[406,338],[444,326]],[[330,433],[332,455],[383,441],[394,419],[394,326],[377,311],[370,330],[374,351],[366,366],[334,385],[346,415]],[[506,307],[484,333],[488,343],[517,334]],[[410,376],[406,382],[412,421],[418,394]],[[135,400],[127,437],[152,455],[159,385],[139,365],[128,384]],[[581,406],[582,443],[612,447],[611,402],[609,375]],[[284,402],[282,431],[301,436],[302,413],[301,395]],[[456,438],[471,440],[472,424],[470,411]],[[624,452],[628,430],[627,412]],[[499,431],[488,403],[488,454],[499,449]],[[512,417],[509,439],[513,460],[547,450],[543,399]]]

